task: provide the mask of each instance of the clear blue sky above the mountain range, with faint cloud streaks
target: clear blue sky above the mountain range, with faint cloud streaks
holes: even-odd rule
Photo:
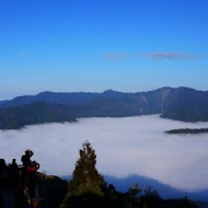
[[[0,100],[208,90],[207,0],[2,0]]]

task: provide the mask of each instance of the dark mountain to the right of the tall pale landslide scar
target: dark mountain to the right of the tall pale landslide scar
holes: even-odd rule
[[[187,88],[172,89],[162,117],[183,122],[208,120],[208,92]]]

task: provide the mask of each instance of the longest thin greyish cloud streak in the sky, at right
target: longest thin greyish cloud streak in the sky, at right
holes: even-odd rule
[[[161,51],[161,53],[142,53],[140,56],[149,58],[151,60],[162,60],[162,59],[199,59],[203,56],[199,54],[188,54],[188,53],[172,53],[172,51]]]

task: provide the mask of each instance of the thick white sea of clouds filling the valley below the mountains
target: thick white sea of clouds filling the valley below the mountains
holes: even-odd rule
[[[0,130],[0,158],[21,164],[26,149],[47,174],[70,175],[79,149],[88,140],[103,175],[145,175],[184,190],[208,188],[208,134],[167,135],[175,128],[205,128],[208,123],[183,123],[159,115],[82,118],[78,123]]]

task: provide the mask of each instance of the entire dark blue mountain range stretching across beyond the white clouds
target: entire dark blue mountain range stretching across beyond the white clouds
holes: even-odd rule
[[[160,114],[183,122],[208,122],[208,92],[188,88],[161,88],[124,93],[42,92],[0,102],[0,128],[74,122],[80,117],[124,117]]]

